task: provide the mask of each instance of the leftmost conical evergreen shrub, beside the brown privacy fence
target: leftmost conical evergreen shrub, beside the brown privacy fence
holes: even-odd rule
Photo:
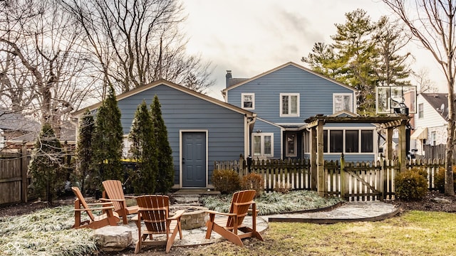
[[[63,171],[63,152],[51,124],[45,123],[36,139],[29,171],[32,186],[38,196],[46,198],[49,204],[57,192],[65,186],[66,175]]]

